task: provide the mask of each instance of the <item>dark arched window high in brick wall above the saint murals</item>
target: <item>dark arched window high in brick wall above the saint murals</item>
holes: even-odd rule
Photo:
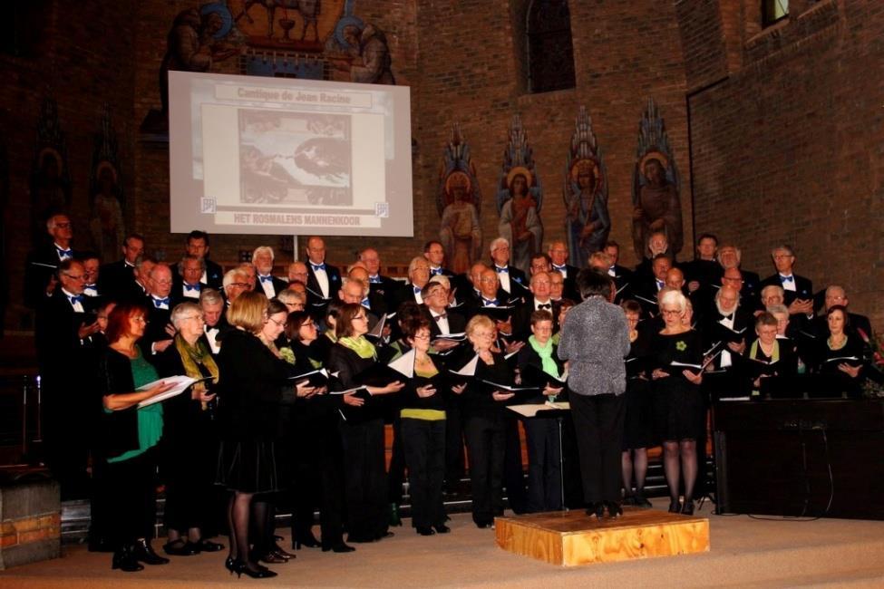
[[[573,88],[574,47],[568,0],[533,0],[527,24],[530,92]]]

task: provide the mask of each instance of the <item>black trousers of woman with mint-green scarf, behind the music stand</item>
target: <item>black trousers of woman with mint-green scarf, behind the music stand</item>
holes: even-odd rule
[[[562,508],[561,444],[559,420],[524,420],[528,445],[528,510],[559,511]]]

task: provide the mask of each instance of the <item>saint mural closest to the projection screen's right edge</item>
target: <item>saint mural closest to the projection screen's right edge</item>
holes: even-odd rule
[[[436,206],[442,216],[439,240],[445,248],[448,268],[455,274],[467,272],[481,259],[481,190],[470,159],[470,146],[461,135],[461,125],[452,124],[439,174]]]

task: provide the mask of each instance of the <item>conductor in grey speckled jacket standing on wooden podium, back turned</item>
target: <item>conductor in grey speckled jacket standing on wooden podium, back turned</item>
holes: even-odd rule
[[[568,360],[571,417],[577,434],[580,478],[587,513],[618,517],[624,392],[629,326],[614,300],[608,275],[581,270],[577,277],[583,303],[568,312],[559,340],[559,358]]]

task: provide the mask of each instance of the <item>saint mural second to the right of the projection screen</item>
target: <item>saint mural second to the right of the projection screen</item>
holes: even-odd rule
[[[528,134],[519,115],[510,122],[510,140],[503,152],[497,192],[498,235],[510,242],[510,264],[530,274],[531,256],[543,251],[540,185]]]

